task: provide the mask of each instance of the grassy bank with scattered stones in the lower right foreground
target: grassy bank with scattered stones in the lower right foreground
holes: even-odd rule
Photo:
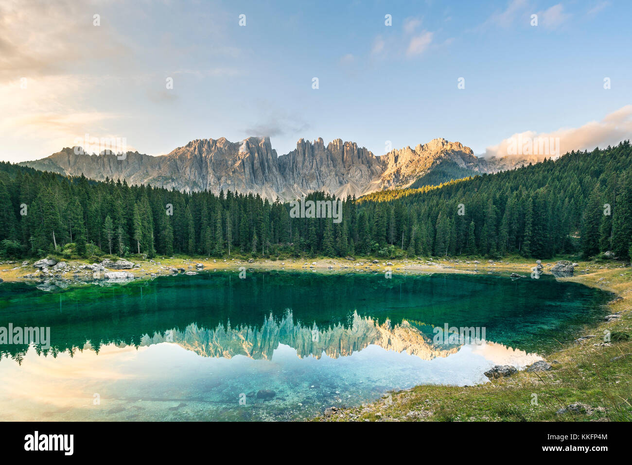
[[[562,281],[616,295],[604,322],[543,354],[551,369],[518,371],[475,386],[418,385],[315,421],[632,421],[632,271],[593,265]]]

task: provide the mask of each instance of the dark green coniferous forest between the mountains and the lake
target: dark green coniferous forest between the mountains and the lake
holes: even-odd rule
[[[289,203],[258,195],[65,178],[3,162],[0,254],[550,258],[612,251],[628,258],[631,162],[626,140],[512,171],[346,198],[339,223],[291,218]]]

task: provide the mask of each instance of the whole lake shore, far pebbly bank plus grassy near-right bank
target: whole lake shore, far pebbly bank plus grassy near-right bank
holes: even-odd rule
[[[545,274],[558,257],[545,260]],[[377,263],[374,263],[377,260]],[[1,261],[1,260],[0,260]],[[35,259],[17,263],[0,263],[0,279],[7,282],[56,282],[81,285],[100,281],[91,269],[82,269],[87,260],[66,260],[59,270],[38,271]],[[156,257],[154,260],[135,260],[134,267],[125,269],[132,279],[154,279],[182,272],[195,273],[231,270],[286,270],[308,273],[386,273],[433,274],[511,273],[530,279],[534,260],[521,257],[491,261],[459,260],[403,260],[356,257],[278,259],[208,257]],[[202,265],[202,267],[200,267]],[[118,271],[111,269],[112,271]],[[410,390],[393,392],[386,401],[364,404],[357,408],[329,410],[317,421],[630,421],[632,420],[632,342],[604,341],[604,332],[630,335],[632,333],[632,270],[620,262],[578,261],[573,277],[561,281],[580,282],[586,286],[611,291],[617,298],[607,306],[609,313],[619,315],[599,325],[586,326],[578,334],[585,337],[558,350],[542,354],[552,370],[539,373],[520,371],[515,375],[471,387],[419,385]],[[114,281],[116,282],[116,281]],[[554,363],[554,361],[556,363]],[[535,395],[535,397],[534,397]],[[535,402],[537,403],[533,403]],[[573,406],[569,408],[569,406]],[[560,413],[558,413],[560,412]]]

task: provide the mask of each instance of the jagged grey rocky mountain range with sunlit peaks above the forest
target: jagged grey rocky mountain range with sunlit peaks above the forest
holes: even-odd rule
[[[83,174],[97,181],[125,179],[128,184],[151,184],[185,192],[237,191],[282,200],[317,190],[336,196],[360,196],[404,188],[444,164],[471,174],[515,166],[506,166],[506,161],[501,165],[480,159],[471,148],[442,138],[376,157],[355,142],[336,139],[325,146],[322,138],[313,142],[300,139],[295,150],[277,156],[268,137],[249,137],[241,142],[223,137],[197,139],[167,155],[152,157],[127,152],[120,160],[114,154],[78,155],[74,148],[66,147],[44,159],[21,164],[68,176]],[[447,179],[439,181],[449,181],[447,174],[443,176]]]

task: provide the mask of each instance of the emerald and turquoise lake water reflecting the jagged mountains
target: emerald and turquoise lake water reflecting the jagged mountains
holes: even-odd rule
[[[0,327],[49,326],[52,347],[0,345],[0,420],[287,420],[420,383],[471,385],[568,341],[608,297],[546,276],[215,272],[58,293],[3,283]],[[445,323],[485,327],[487,342],[435,344]]]

